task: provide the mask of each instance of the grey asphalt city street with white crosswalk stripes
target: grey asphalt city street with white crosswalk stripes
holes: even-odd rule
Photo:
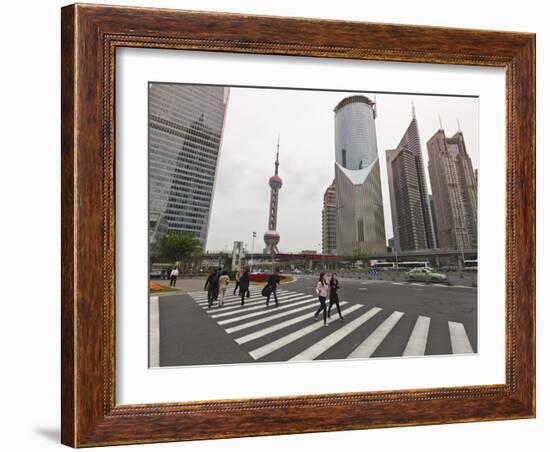
[[[224,307],[206,292],[151,297],[151,366],[443,355],[477,351],[477,290],[464,284],[341,279],[344,321],[323,326],[316,277],[298,276],[266,308],[261,286]],[[327,300],[328,307],[328,300]]]

